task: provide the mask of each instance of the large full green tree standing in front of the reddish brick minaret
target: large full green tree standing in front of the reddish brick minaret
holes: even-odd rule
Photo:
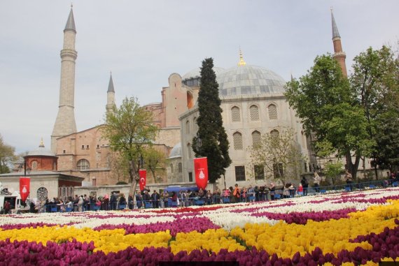
[[[375,142],[370,139],[365,111],[338,62],[330,54],[316,57],[307,75],[286,84],[285,96],[307,134],[315,135],[316,152],[332,148],[338,157],[346,158],[355,178],[360,157],[369,156]]]

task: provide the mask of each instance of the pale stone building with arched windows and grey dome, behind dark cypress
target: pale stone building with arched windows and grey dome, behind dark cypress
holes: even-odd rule
[[[267,68],[246,65],[241,54],[238,66],[223,71],[216,69],[223,126],[230,142],[229,154],[232,159],[230,167],[226,169],[225,180],[219,179],[219,183],[222,182],[223,186],[234,186],[236,183],[239,186],[254,186],[264,185],[268,178],[273,179],[273,173],[267,172],[263,177],[255,177],[254,169],[249,166],[251,154],[248,147],[260,142],[261,135],[265,133],[279,133],[282,128],[293,128],[295,141],[302,154],[307,156],[307,140],[302,133],[302,125],[295,118],[295,112],[283,96],[286,81],[280,75]],[[188,74],[183,77],[186,80],[199,79],[199,76],[190,77]],[[198,116],[198,107],[194,105],[179,117],[183,182],[195,182],[195,154],[191,143],[198,131]],[[286,181],[290,180],[293,177],[286,177]]]

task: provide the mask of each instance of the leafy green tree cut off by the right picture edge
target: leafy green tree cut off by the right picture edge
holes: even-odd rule
[[[391,47],[369,47],[353,59],[351,89],[365,111],[372,157],[382,168],[399,165],[399,59]],[[377,170],[377,168],[376,168]]]

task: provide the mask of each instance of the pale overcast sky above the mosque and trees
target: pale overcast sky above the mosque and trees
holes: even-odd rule
[[[104,122],[111,72],[117,105],[131,96],[160,102],[169,75],[183,76],[207,57],[237,66],[240,47],[247,64],[285,80],[305,75],[317,55],[333,52],[331,7],[349,73],[367,47],[398,42],[398,0],[76,1],[77,129]],[[0,135],[17,154],[41,138],[50,149],[70,9],[64,0],[1,3]]]

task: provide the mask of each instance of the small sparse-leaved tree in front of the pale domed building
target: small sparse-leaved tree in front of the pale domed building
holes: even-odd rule
[[[295,142],[292,128],[278,128],[278,131],[261,135],[257,145],[248,147],[251,154],[250,168],[260,170],[255,165],[262,165],[269,178],[288,179],[300,177],[305,160],[300,145]],[[282,170],[282,171],[281,171]],[[255,172],[255,175],[259,173]]]

